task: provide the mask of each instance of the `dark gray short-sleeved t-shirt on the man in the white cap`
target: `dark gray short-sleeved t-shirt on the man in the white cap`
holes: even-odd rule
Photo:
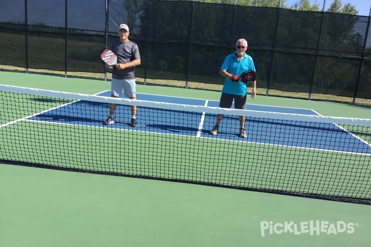
[[[112,51],[117,56],[117,63],[129,63],[135,59],[140,59],[139,49],[137,44],[129,40],[126,43],[121,43],[120,40],[112,42]],[[116,69],[112,72],[112,78],[119,80],[132,80],[135,79],[134,67],[126,68],[123,70]]]

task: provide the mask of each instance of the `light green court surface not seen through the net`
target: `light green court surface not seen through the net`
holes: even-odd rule
[[[0,71],[0,84],[95,94],[109,81]],[[219,100],[220,92],[137,86]],[[257,96],[248,103],[370,118],[368,106]],[[371,206],[0,164],[0,246],[369,246]]]

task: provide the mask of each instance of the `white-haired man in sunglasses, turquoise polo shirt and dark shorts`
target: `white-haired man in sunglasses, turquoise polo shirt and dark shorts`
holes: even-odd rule
[[[234,100],[234,108],[246,110],[247,87],[241,82],[239,77],[242,72],[247,70],[255,71],[253,59],[245,53],[247,50],[247,41],[239,39],[236,43],[236,51],[226,57],[219,74],[226,77],[223,89],[221,90],[221,97],[219,107],[231,108]],[[253,82],[253,90],[250,97],[255,99],[256,96],[256,81]],[[219,124],[223,114],[218,114],[216,117],[216,124],[210,131],[210,134],[216,135],[219,131]],[[240,116],[240,137],[246,137],[245,130],[245,116]]]

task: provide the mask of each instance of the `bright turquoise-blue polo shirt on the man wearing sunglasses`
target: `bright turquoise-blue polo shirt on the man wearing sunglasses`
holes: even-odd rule
[[[233,74],[235,76],[241,76],[242,72],[247,70],[255,71],[253,59],[249,55],[244,53],[243,58],[239,61],[235,56],[236,52],[237,51],[226,57],[220,69],[226,70],[228,73]],[[221,91],[223,93],[229,93],[234,95],[247,94],[246,84],[244,84],[241,81],[234,82],[227,77],[226,80],[224,81],[224,86]]]

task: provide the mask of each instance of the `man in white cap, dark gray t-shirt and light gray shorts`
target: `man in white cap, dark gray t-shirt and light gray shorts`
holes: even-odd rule
[[[135,71],[134,67],[140,64],[140,55],[137,44],[130,41],[129,27],[126,24],[121,24],[119,27],[119,40],[112,42],[112,51],[117,56],[117,63],[115,66],[106,64],[107,69],[113,70],[111,82],[111,97],[121,97],[124,91],[125,97],[129,99],[137,99],[135,97]],[[109,116],[104,125],[113,124],[116,104],[109,104]],[[131,106],[131,126],[137,127],[135,114],[137,107]]]

